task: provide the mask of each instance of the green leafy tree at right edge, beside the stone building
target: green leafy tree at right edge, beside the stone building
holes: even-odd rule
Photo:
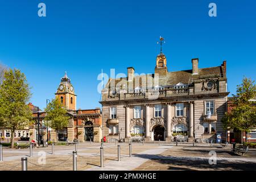
[[[256,97],[256,85],[250,78],[243,78],[233,95],[233,109],[225,113],[222,122],[225,129],[245,131],[246,134],[256,127],[256,104],[249,101]],[[247,137],[246,137],[247,140]]]

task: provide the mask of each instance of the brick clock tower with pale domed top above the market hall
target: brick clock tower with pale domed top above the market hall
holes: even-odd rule
[[[60,85],[55,94],[68,110],[76,110],[76,94],[67,76],[67,72],[65,72],[64,77],[61,78]]]

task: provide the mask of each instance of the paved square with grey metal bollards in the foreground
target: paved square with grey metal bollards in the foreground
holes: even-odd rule
[[[121,161],[117,161],[117,145],[121,146]],[[244,155],[236,155],[230,147],[221,148],[215,144],[189,143],[133,143],[133,156],[129,157],[128,143],[104,143],[104,168],[100,167],[100,143],[80,143],[77,149],[77,170],[255,170],[256,150],[249,149]],[[21,158],[28,158],[28,171],[71,171],[73,169],[73,146],[55,146],[55,154],[51,154],[51,146],[33,150],[29,157],[29,148],[3,148],[3,162],[0,170],[11,171],[21,169]],[[216,152],[216,164],[210,165],[210,151]],[[45,164],[42,163],[46,156]]]

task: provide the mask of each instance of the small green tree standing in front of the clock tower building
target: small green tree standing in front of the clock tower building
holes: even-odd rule
[[[58,142],[57,133],[59,130],[68,126],[67,110],[61,104],[58,98],[52,99],[52,101],[46,107],[46,118],[47,125],[56,131],[56,140]]]

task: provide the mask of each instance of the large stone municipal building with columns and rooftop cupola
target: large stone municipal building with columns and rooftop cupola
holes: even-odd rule
[[[199,68],[192,59],[190,70],[171,72],[167,58],[156,56],[154,74],[110,78],[102,90],[103,136],[107,140],[184,140],[204,142],[226,131],[221,118],[226,111],[226,61]]]

